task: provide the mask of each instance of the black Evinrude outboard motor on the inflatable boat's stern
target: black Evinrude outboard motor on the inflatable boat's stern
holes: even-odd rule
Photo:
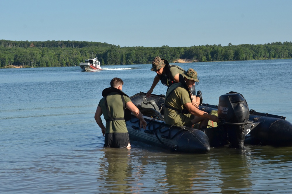
[[[232,91],[220,96],[218,117],[224,119],[222,127],[227,131],[231,147],[244,148],[249,110],[243,96]]]

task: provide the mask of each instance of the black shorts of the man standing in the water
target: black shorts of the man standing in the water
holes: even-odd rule
[[[129,133],[106,133],[103,147],[123,148],[130,142]]]

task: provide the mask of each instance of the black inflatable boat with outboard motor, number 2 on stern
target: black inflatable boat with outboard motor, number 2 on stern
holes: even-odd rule
[[[246,100],[236,92],[220,96],[218,105],[199,106],[207,113],[217,113],[222,120],[203,130],[167,125],[163,120],[164,95],[147,98],[140,92],[130,98],[147,122],[146,130],[140,129],[139,119],[132,115],[126,122],[130,140],[186,153],[208,153],[210,147],[227,145],[292,146],[292,124],[285,117],[249,110]]]

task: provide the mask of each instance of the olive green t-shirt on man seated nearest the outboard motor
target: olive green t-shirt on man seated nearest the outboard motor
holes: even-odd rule
[[[177,87],[179,86],[179,87]],[[177,87],[176,89],[174,89]],[[171,92],[174,89],[173,92]],[[175,83],[170,86],[166,93],[166,101],[165,104],[182,110],[183,105],[186,103],[191,103],[191,99],[189,97],[188,91],[186,89],[182,88],[181,83]],[[164,106],[164,120],[165,123],[168,125],[177,125],[177,126],[191,126],[193,123],[191,120],[194,118],[191,114],[183,114],[181,112],[178,112],[176,110],[172,110],[170,108],[166,108]]]

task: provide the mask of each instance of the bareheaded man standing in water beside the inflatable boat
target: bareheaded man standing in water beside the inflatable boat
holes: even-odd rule
[[[104,138],[104,147],[130,147],[129,133],[126,127],[125,118],[131,117],[128,110],[140,120],[140,127],[146,129],[146,121],[144,120],[139,109],[132,103],[127,94],[122,92],[124,82],[120,78],[113,78],[110,81],[110,88],[102,91],[101,100],[96,108],[94,119],[101,128]],[[127,109],[125,110],[125,108]],[[101,121],[103,114],[106,120],[106,127]]]

